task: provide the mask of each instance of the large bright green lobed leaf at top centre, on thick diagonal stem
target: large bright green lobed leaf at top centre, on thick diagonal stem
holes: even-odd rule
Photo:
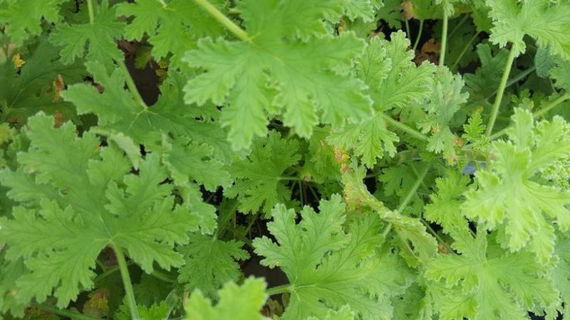
[[[269,114],[310,137],[319,122],[341,125],[371,110],[365,85],[351,77],[364,43],[353,33],[331,36],[348,1],[244,0],[237,9],[248,39],[202,38],[184,60],[202,68],[185,87],[185,101],[225,105],[222,125],[234,149],[264,136]],[[324,20],[324,21],[323,21]]]

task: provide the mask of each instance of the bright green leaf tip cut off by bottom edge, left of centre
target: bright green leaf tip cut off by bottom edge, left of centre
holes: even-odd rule
[[[265,304],[265,282],[262,279],[248,278],[237,286],[228,282],[219,290],[219,302],[205,298],[199,290],[190,295],[185,304],[187,320],[264,320],[259,310]]]

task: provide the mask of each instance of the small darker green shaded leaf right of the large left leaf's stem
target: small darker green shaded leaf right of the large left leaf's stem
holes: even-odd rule
[[[190,242],[180,247],[185,265],[180,268],[178,282],[185,289],[199,289],[207,297],[215,297],[217,289],[226,282],[237,282],[242,274],[236,260],[247,260],[243,242],[224,241],[209,235],[190,235]]]

